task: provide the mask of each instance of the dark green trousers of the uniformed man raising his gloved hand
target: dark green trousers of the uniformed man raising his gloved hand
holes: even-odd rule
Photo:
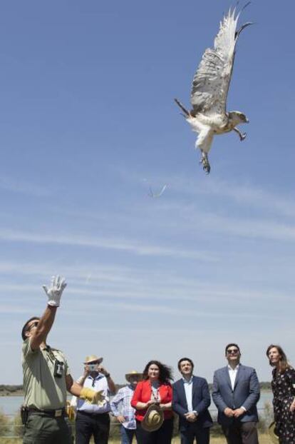
[[[24,431],[24,444],[71,444],[71,432],[65,418],[30,415]]]

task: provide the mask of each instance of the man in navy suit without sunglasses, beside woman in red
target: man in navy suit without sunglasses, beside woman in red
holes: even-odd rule
[[[209,444],[212,418],[208,412],[211,403],[207,380],[192,375],[194,363],[190,358],[178,361],[182,378],[173,384],[172,409],[180,418],[181,444]]]

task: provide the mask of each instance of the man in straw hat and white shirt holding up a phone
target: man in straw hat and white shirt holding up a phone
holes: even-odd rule
[[[95,444],[107,444],[110,433],[110,395],[116,392],[110,373],[102,365],[103,358],[86,356],[84,373],[77,383],[84,388],[102,391],[105,403],[91,405],[78,399],[76,415],[76,444],[89,444],[93,435]]]

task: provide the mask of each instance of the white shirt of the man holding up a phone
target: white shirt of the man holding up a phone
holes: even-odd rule
[[[103,395],[105,396],[105,400],[107,402],[100,406],[90,404],[83,399],[78,399],[77,410],[83,410],[83,412],[87,413],[108,413],[110,411],[110,393],[108,390],[108,381],[107,378],[105,378],[105,375],[98,373],[98,376],[96,376],[94,379],[92,376],[88,376],[83,384],[83,387],[92,388],[95,390],[95,392],[98,390],[103,390]]]

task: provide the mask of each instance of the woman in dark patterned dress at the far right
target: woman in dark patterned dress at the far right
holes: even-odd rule
[[[288,363],[279,345],[269,345],[266,350],[272,371],[271,388],[274,393],[274,432],[280,444],[295,443],[295,370]]]

